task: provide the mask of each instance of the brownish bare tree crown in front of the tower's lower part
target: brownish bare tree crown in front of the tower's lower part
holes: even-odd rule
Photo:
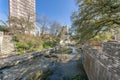
[[[9,22],[10,22],[11,32],[14,34],[17,33],[25,34],[26,31],[30,33],[30,31],[33,31],[35,29],[34,22],[31,22],[30,20],[26,20],[23,17],[17,18],[14,16],[10,16]]]

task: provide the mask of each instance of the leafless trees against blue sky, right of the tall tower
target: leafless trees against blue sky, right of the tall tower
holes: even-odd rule
[[[45,16],[37,19],[37,25],[40,27],[42,38],[49,36],[55,42],[60,42],[67,30],[67,26],[62,26],[57,21],[51,21]]]

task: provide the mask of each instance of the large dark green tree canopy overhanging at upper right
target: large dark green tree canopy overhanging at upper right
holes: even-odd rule
[[[77,0],[77,5],[78,11],[71,18],[79,42],[120,26],[120,0]]]

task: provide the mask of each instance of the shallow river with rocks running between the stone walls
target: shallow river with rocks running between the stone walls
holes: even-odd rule
[[[56,54],[53,51],[2,69],[0,80],[88,80],[80,50],[70,48],[72,49],[70,54]]]

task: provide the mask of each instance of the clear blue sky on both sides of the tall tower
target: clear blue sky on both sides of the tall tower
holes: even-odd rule
[[[46,16],[62,25],[71,25],[70,16],[76,9],[75,0],[36,0],[38,18]],[[8,16],[8,0],[0,0],[0,20],[7,20]]]

